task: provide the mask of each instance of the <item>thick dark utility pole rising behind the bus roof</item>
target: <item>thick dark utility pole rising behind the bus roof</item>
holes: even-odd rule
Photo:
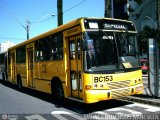
[[[63,25],[63,0],[57,0],[58,26]]]

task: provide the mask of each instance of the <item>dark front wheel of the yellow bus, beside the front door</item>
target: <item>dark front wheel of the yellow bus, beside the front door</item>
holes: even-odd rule
[[[53,95],[53,98],[56,102],[62,102],[63,99],[64,99],[63,86],[62,86],[60,80],[54,81],[54,82],[53,81],[52,81],[52,95]]]

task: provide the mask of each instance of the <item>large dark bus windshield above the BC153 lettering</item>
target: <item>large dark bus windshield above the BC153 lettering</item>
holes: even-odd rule
[[[85,70],[101,71],[138,67],[136,34],[85,32]]]

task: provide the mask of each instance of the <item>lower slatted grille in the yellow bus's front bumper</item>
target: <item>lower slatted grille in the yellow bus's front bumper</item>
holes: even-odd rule
[[[115,99],[115,98],[127,96],[127,95],[129,95],[129,93],[130,93],[130,89],[127,88],[127,89],[112,91],[111,96],[112,96],[112,99]]]

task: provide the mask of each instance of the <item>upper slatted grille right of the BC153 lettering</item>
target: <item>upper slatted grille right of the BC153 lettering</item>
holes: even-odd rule
[[[117,81],[117,82],[109,82],[107,83],[109,89],[119,89],[129,87],[131,80]]]

